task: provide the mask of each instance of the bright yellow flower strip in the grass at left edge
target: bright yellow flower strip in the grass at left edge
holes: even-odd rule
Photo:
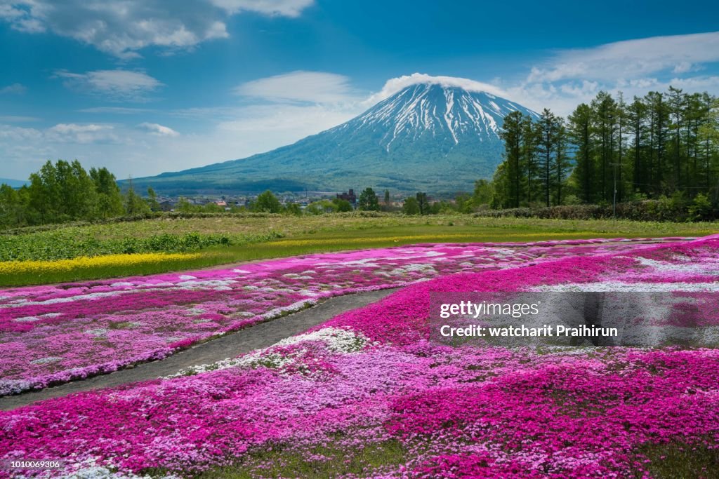
[[[200,257],[201,254],[199,253],[141,253],[110,254],[92,258],[83,256],[58,261],[3,261],[0,262],[0,274],[47,274],[113,266],[145,266],[166,263],[167,261],[198,259]]]

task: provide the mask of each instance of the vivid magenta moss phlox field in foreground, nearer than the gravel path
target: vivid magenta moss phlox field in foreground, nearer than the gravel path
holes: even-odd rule
[[[403,445],[402,463],[370,477],[651,477],[642,447],[719,444],[719,350],[449,348],[427,340],[429,292],[715,291],[718,247],[714,236],[413,284],[191,376],[1,412],[0,459],[65,458],[50,475],[189,475],[278,446],[310,458],[340,434],[348,454]]]

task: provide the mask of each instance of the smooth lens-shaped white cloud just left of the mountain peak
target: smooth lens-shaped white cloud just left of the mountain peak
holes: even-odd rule
[[[252,80],[234,88],[240,96],[270,101],[306,101],[334,103],[359,99],[344,75],[326,72],[295,71]]]

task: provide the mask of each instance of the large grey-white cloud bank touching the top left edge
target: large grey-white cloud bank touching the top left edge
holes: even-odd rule
[[[297,17],[311,0],[0,0],[0,20],[21,32],[50,31],[119,58],[161,47],[186,50],[229,37],[226,20],[254,11]]]

